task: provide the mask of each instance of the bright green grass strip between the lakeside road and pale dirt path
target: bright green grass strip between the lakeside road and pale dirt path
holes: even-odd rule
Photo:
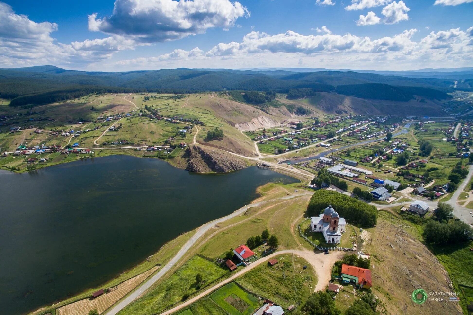
[[[202,289],[196,288],[195,276],[197,273],[201,273],[204,281],[203,287],[205,287],[227,275],[228,270],[194,255],[172,276],[149,290],[133,304],[125,307],[119,314],[155,314],[171,308],[176,303],[185,300],[186,294],[190,296]]]

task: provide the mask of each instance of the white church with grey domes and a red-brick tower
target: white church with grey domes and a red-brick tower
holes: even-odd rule
[[[324,214],[318,217],[311,217],[312,232],[322,232],[325,242],[338,244],[342,238],[342,232],[345,231],[345,219],[340,218],[337,212],[333,210],[332,205],[324,210]]]

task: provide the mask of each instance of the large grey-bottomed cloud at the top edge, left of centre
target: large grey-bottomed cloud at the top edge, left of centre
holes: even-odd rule
[[[156,43],[205,33],[212,27],[229,29],[250,12],[229,0],[116,0],[109,17],[88,17],[88,28],[111,35]]]

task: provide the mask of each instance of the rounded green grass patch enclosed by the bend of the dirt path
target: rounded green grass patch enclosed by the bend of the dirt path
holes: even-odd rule
[[[255,294],[268,298],[283,308],[296,305],[300,299],[304,302],[314,291],[317,283],[315,270],[301,257],[292,255],[277,256],[279,261],[274,266],[261,264],[238,278],[236,282]],[[304,266],[307,266],[304,269]]]

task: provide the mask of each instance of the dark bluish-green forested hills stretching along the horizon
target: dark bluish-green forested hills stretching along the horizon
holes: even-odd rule
[[[454,91],[454,84],[454,79],[419,79],[352,71],[291,72],[181,68],[86,72],[54,66],[0,69],[0,97],[17,98],[11,102],[12,105],[25,105],[26,102],[46,104],[44,102],[61,100],[69,96],[77,97],[90,91],[191,93],[273,90],[289,93],[290,90],[301,88],[361,98],[405,101],[411,99],[413,95],[431,99],[447,98],[445,93]],[[310,94],[307,90],[305,93]]]

